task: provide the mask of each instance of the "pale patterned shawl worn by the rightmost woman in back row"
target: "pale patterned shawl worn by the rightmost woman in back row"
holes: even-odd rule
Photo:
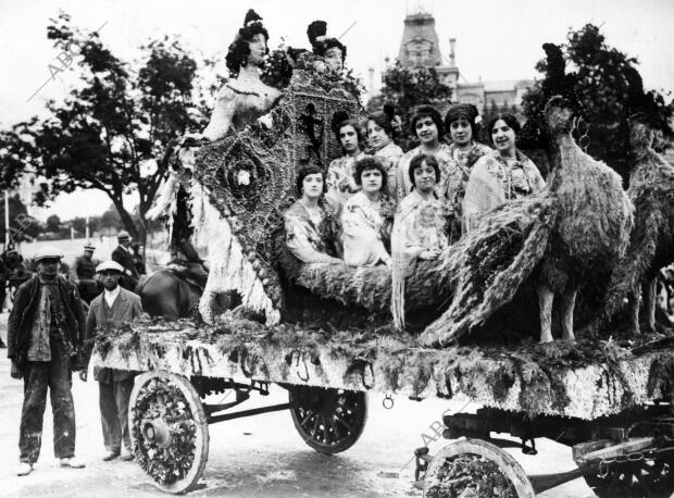
[[[545,187],[540,172],[522,152],[515,151],[515,159],[507,161],[492,150],[471,172],[463,201],[466,231],[475,228],[485,213],[503,202],[531,196]]]

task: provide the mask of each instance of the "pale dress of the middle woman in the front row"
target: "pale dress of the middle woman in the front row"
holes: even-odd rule
[[[344,261],[351,266],[388,264],[391,260],[386,250],[386,207],[391,201],[382,198],[371,202],[362,192],[351,197],[341,212],[341,237]]]

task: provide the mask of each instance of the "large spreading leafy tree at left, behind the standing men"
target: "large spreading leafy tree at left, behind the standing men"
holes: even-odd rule
[[[47,32],[62,50],[59,60],[72,57],[58,71],[74,71],[78,83],[64,101],[47,103],[46,120],[34,117],[0,135],[0,179],[12,182],[20,171],[45,176],[41,201],[77,188],[102,190],[124,227],[145,240],[145,213],[166,174],[154,158],[207,121],[198,64],[179,40],[164,37],[140,48],[134,71],[97,33],[73,27],[65,13]],[[124,200],[130,192],[138,196],[137,222]]]

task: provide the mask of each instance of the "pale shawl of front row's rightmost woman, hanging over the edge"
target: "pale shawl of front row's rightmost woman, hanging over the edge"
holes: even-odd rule
[[[398,206],[391,234],[391,314],[399,328],[404,326],[404,281],[414,271],[421,252],[442,251],[448,247],[449,215],[447,200],[437,194],[425,199],[412,190]]]

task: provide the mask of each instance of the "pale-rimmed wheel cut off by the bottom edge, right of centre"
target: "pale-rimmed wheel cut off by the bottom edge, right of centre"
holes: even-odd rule
[[[442,448],[428,465],[425,498],[460,496],[534,498],[536,494],[522,465],[498,446],[482,439],[462,439]]]

